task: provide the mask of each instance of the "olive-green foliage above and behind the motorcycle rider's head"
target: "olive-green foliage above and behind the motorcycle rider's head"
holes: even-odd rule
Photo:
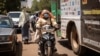
[[[31,11],[38,11],[38,10],[43,10],[43,9],[51,9],[51,0],[40,0],[39,2],[37,0],[33,0],[33,5],[31,8]]]

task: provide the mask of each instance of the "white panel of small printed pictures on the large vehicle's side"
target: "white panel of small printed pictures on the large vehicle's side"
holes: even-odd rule
[[[80,0],[61,0],[61,18],[80,16]]]

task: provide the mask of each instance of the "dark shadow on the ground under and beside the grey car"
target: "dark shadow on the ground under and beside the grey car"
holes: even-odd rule
[[[16,47],[16,54],[12,55],[11,52],[1,52],[0,56],[22,56],[22,43],[18,42],[17,47]]]

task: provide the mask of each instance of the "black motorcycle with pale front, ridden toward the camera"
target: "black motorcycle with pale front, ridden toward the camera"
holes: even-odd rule
[[[53,56],[55,48],[55,35],[52,32],[55,29],[50,25],[45,25],[42,27],[42,34],[40,45],[40,56]]]

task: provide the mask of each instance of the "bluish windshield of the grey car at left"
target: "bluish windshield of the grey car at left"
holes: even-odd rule
[[[8,17],[0,18],[0,28],[11,28],[12,23]]]

